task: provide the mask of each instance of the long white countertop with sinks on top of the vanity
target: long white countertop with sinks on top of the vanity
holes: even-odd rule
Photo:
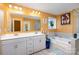
[[[0,36],[0,40],[8,40],[8,39],[14,39],[14,38],[22,38],[22,37],[30,37],[30,36],[38,36],[38,35],[44,35],[41,32],[30,32],[30,33],[17,33],[17,34],[4,34]]]

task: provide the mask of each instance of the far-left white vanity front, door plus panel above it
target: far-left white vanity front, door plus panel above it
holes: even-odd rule
[[[1,41],[1,54],[2,55],[14,55],[15,54],[15,42],[14,40]]]

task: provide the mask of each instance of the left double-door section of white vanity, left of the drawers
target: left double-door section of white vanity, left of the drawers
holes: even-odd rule
[[[18,38],[2,41],[1,54],[26,55],[26,40],[22,40],[22,38],[20,39]]]

